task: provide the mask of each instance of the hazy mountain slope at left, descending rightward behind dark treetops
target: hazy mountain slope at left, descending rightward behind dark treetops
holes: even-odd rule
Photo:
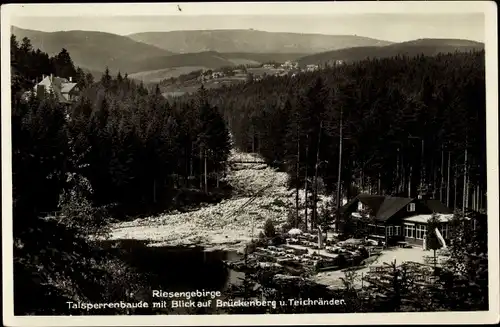
[[[204,51],[177,54],[149,44],[134,41],[126,36],[93,31],[42,32],[18,27],[12,28],[20,42],[30,39],[34,49],[55,55],[62,48],[68,50],[75,66],[100,76],[106,67],[112,74],[118,71],[134,74],[145,71],[184,67],[216,69],[239,64],[260,64],[267,61],[297,59],[303,53],[219,53]]]

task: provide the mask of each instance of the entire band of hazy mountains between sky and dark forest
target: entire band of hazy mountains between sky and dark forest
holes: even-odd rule
[[[180,72],[186,73],[203,68],[217,69],[223,66],[272,61],[294,60],[304,66],[333,60],[349,62],[368,57],[384,58],[403,54],[414,56],[422,53],[436,55],[440,52],[484,49],[483,43],[459,39],[419,39],[391,43],[359,36],[273,33],[255,30],[151,32],[120,36],[94,31],[41,32],[13,27],[12,33],[16,35],[18,41],[28,37],[34,49],[39,48],[49,55],[55,55],[62,48],[66,48],[75,66],[80,66],[97,76],[98,72],[103,72],[107,66],[112,74],[121,71],[142,76],[147,73],[146,75],[153,74],[155,78],[161,78],[163,74],[177,75]],[[139,37],[141,35],[142,37]],[[161,38],[161,36],[167,37]],[[179,38],[172,39],[174,36]],[[230,36],[235,38],[231,39]],[[243,36],[248,38],[245,39]],[[141,38],[149,38],[149,42],[152,42],[150,37],[160,38],[162,41],[156,45],[139,41]],[[293,40],[295,43],[292,43]],[[162,48],[167,44],[175,48],[177,53]],[[295,47],[289,46],[290,44]],[[307,48],[307,45],[310,48]],[[202,47],[216,46],[220,46],[217,51],[201,51]],[[186,47],[192,52],[178,53]],[[315,49],[325,47],[337,50],[311,54],[312,51],[316,51]],[[246,52],[244,49],[255,49],[255,52]]]

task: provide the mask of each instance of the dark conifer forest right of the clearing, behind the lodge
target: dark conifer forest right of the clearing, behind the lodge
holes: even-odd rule
[[[364,60],[210,97],[235,145],[286,169],[292,187],[314,188],[317,176],[347,198],[486,208],[484,51]]]

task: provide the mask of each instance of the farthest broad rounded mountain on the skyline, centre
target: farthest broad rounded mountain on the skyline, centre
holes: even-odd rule
[[[359,46],[384,46],[392,42],[356,35],[299,34],[258,30],[192,30],[145,32],[131,39],[179,53],[217,51],[249,53],[304,53]]]

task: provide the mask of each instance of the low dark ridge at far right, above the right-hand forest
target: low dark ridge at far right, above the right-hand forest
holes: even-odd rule
[[[418,39],[394,43],[383,47],[355,47],[335,51],[326,51],[298,59],[300,65],[324,64],[335,60],[344,62],[359,61],[367,58],[388,58],[397,55],[416,56],[424,54],[434,56],[439,53],[467,52],[483,50],[484,43],[461,39]]]

